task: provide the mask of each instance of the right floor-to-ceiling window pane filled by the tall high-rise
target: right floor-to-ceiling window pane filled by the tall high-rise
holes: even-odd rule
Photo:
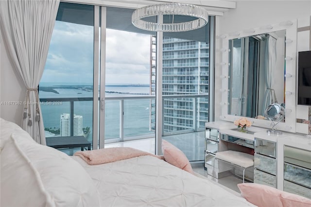
[[[164,16],[163,21],[169,22],[170,18]],[[174,19],[178,21],[178,16]],[[171,141],[191,161],[204,159],[202,130],[209,121],[211,20],[201,29],[163,34],[162,138]]]

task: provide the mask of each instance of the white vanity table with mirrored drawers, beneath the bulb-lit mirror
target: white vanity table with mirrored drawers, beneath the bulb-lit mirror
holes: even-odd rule
[[[228,150],[254,155],[254,167],[245,171],[245,179],[295,193],[311,199],[311,138],[284,133],[269,135],[267,129],[250,127],[250,133],[236,130],[233,122],[205,124],[205,169],[217,179],[235,173],[217,159],[216,153]],[[234,170],[234,171],[233,171]]]

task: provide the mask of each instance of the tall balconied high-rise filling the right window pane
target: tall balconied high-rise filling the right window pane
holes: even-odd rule
[[[163,100],[164,132],[204,127],[208,121],[209,44],[164,36],[162,63],[163,95],[185,96]],[[206,96],[187,97],[198,94]]]

